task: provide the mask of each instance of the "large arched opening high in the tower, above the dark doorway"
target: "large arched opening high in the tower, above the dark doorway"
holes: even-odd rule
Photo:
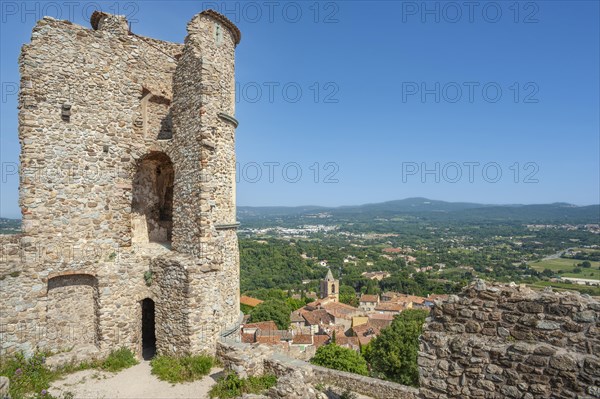
[[[163,152],[142,158],[133,179],[132,242],[170,244],[173,230],[171,159]]]

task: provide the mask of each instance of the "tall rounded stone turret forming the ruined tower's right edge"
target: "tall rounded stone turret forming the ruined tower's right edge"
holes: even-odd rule
[[[192,335],[200,337],[192,345],[205,350],[240,313],[235,126],[219,116],[234,113],[238,38],[212,14],[199,14],[187,29],[173,89],[174,163],[185,171],[175,172],[173,248],[198,258],[190,269],[190,307],[203,311],[191,326]]]

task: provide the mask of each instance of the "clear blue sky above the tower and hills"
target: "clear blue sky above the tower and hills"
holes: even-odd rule
[[[600,202],[597,1],[2,1],[0,216],[18,217],[18,55],[43,14],[182,42],[236,22],[238,205]]]

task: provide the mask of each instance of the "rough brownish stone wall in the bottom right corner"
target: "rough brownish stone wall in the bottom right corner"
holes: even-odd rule
[[[600,397],[600,303],[486,286],[435,304],[421,336],[424,398]]]

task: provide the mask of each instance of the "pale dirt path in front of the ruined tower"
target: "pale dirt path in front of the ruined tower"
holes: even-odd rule
[[[215,368],[202,380],[173,385],[150,374],[150,362],[142,361],[120,373],[79,371],[55,381],[48,391],[56,397],[71,392],[77,399],[203,399],[208,398],[208,391],[221,371]]]

